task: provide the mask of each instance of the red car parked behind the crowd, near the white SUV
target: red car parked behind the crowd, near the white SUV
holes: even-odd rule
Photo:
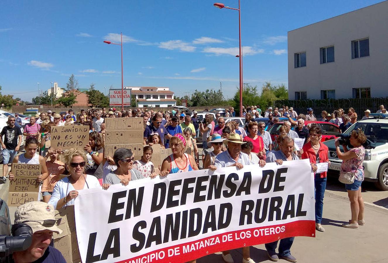
[[[338,138],[338,134],[341,133],[340,127],[338,127],[337,125],[331,122],[305,120],[305,125],[308,125],[310,123],[317,123],[320,125],[322,129],[322,141]],[[283,122],[277,122],[268,129],[268,132],[271,134],[272,141],[275,141],[277,136],[279,136],[279,129],[282,126],[282,124]],[[292,125],[291,129],[295,130],[295,125]]]

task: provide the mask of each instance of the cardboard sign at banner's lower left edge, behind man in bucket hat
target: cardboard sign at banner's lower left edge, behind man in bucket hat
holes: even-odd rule
[[[66,262],[78,263],[81,262],[80,251],[78,249],[74,206],[65,206],[59,210],[55,210],[55,219],[59,219],[58,227],[63,231],[61,234],[53,234],[54,247],[58,249]]]

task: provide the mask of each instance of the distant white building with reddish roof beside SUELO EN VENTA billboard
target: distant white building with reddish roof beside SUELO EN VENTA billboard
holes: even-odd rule
[[[125,87],[132,89],[131,95],[136,96],[137,107],[170,107],[175,106],[174,93],[166,87]]]

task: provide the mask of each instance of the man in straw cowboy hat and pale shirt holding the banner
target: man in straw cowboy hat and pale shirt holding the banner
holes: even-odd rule
[[[246,153],[241,152],[241,144],[246,142],[242,142],[238,134],[231,133],[229,138],[225,139],[223,143],[228,145],[228,150],[216,156],[215,165],[209,166],[211,170],[216,170],[218,167],[229,166],[236,166],[237,169],[241,169],[244,165],[253,164],[253,162],[249,160],[249,156]],[[260,167],[264,167],[265,161],[260,160],[259,165]],[[229,250],[222,252],[222,259],[227,263],[234,262]],[[255,263],[250,257],[249,247],[242,248],[242,263]]]

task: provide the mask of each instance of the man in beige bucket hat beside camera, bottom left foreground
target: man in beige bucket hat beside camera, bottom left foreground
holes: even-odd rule
[[[25,223],[31,227],[32,242],[28,249],[10,255],[9,262],[66,263],[61,252],[49,246],[52,233],[62,233],[57,227],[54,211],[52,205],[39,201],[29,202],[17,208],[15,223]]]

